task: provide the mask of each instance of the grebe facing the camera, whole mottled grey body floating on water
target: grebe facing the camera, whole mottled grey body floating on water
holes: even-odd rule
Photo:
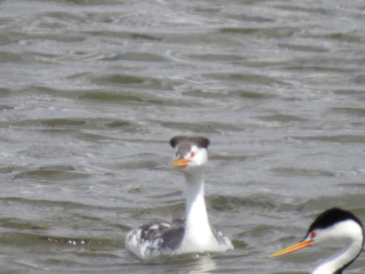
[[[176,136],[173,165],[185,175],[187,183],[186,220],[153,222],[130,231],[126,248],[141,259],[189,252],[222,252],[233,249],[231,241],[210,227],[204,201],[204,165],[209,140],[204,137]]]

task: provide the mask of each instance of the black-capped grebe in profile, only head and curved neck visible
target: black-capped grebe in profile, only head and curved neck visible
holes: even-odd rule
[[[356,260],[364,247],[364,227],[352,213],[339,208],[328,209],[311,224],[303,241],[269,257],[326,242],[343,243],[345,247],[321,263],[312,274],[341,274]]]

